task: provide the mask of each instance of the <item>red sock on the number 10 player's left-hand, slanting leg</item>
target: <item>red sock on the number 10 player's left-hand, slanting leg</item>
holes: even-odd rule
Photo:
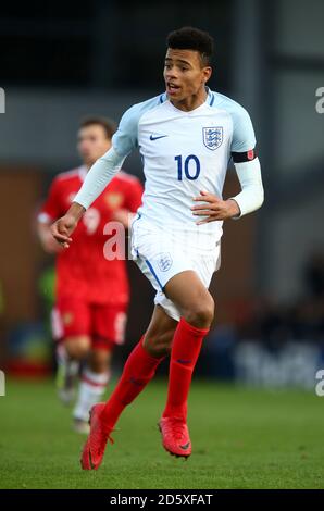
[[[107,402],[101,419],[113,428],[122,411],[144,390],[152,379],[160,362],[164,359],[151,357],[142,347],[144,336],[129,354],[123,374]]]

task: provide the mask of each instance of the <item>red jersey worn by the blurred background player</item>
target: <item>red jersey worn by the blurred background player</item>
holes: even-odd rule
[[[54,178],[39,221],[54,222],[66,213],[86,173],[86,167],[80,166]],[[103,230],[105,224],[113,221],[114,210],[135,213],[141,204],[141,195],[142,186],[137,177],[123,171],[113,177],[79,221],[71,246],[57,256],[57,298],[77,294],[91,303],[128,302],[126,262],[104,258],[104,244],[115,232],[107,235]]]

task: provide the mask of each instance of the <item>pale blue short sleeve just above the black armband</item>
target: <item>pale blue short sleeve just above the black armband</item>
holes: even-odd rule
[[[233,139],[232,152],[246,152],[256,147],[256,135],[252,122],[248,112],[237,104],[232,112],[233,119]]]

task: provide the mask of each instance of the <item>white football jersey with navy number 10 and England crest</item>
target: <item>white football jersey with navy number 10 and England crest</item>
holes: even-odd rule
[[[185,112],[166,94],[135,104],[123,115],[112,144],[126,157],[138,147],[146,177],[142,220],[164,229],[222,236],[223,222],[197,226],[191,207],[200,190],[222,198],[232,152],[256,146],[247,111],[219,92],[208,90],[203,104]]]

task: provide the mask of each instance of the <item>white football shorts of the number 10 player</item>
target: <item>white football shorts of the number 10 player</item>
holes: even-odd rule
[[[196,238],[196,239],[194,239]],[[137,214],[130,228],[132,259],[157,290],[154,303],[176,321],[180,319],[177,307],[163,292],[165,284],[186,270],[197,273],[205,288],[221,265],[221,242],[205,248],[203,237],[188,233],[162,229]]]

